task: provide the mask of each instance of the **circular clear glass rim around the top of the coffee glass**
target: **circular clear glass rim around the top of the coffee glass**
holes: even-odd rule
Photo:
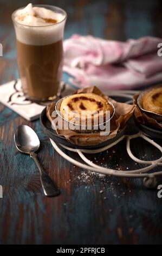
[[[50,25],[41,25],[41,26],[25,25],[25,24],[22,24],[22,23],[16,21],[16,20],[15,20],[15,16],[14,16],[15,13],[16,13],[18,10],[22,10],[22,9],[25,8],[25,7],[21,7],[21,8],[18,8],[17,10],[15,10],[14,13],[12,13],[12,15],[11,15],[12,21],[13,21],[14,23],[16,23],[16,24],[18,24],[18,25],[21,25],[21,26],[24,26],[24,27],[41,28],[41,27],[56,26],[56,25],[62,23],[63,21],[66,21],[66,20],[67,20],[67,16],[68,16],[68,15],[67,15],[66,11],[63,10],[62,8],[60,8],[60,7],[56,7],[55,5],[51,5],[51,4],[34,4],[33,7],[44,7],[44,8],[46,8],[46,9],[47,9],[47,7],[53,7],[53,8],[55,8],[55,9],[57,9],[57,10],[62,11],[62,13],[64,14],[64,19],[61,20],[61,21],[59,21],[59,22],[57,22],[57,23],[50,24]]]

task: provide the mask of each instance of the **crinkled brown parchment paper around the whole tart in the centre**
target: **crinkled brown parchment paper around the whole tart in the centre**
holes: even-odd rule
[[[101,91],[96,87],[88,87],[84,89],[77,90],[76,93],[95,93],[104,96]],[[67,141],[79,145],[79,146],[90,146],[98,145],[108,139],[116,136],[116,134],[122,130],[129,118],[131,118],[135,105],[128,105],[126,103],[116,102],[107,96],[107,99],[111,100],[115,107],[114,117],[111,119],[111,131],[107,136],[100,136],[100,133],[78,133],[72,130],[56,130],[57,134],[63,136]],[[53,118],[51,117],[52,112],[55,110],[55,103],[51,103],[47,106],[47,117],[52,123]]]

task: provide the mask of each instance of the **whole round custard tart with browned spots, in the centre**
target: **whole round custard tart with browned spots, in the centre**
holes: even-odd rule
[[[114,113],[114,107],[101,95],[80,93],[65,97],[61,102],[60,113],[69,122],[87,125],[89,120],[93,123],[96,118],[104,123],[107,121],[106,113],[109,113],[110,119]]]

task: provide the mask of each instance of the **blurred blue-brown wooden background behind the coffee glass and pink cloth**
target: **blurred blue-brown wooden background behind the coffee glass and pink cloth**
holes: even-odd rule
[[[1,83],[18,76],[11,14],[28,3],[29,1],[24,0],[0,0],[0,41],[3,44],[5,57],[1,59],[3,63],[0,69]],[[162,38],[160,0],[49,0],[33,1],[33,4],[53,4],[67,11],[68,20],[64,38],[69,38],[74,33],[92,34],[105,39],[122,41],[146,35]],[[7,65],[10,66],[10,70],[6,69]]]

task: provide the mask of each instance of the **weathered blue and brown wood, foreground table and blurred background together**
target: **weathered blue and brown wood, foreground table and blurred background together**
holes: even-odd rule
[[[0,84],[18,77],[12,11],[29,1],[0,0]],[[33,3],[46,1],[33,1]],[[162,38],[161,1],[48,0],[67,10],[65,38],[74,33],[126,40],[152,35]],[[64,80],[67,77],[64,75]],[[43,196],[35,163],[17,152],[16,127],[27,124],[41,140],[38,158],[61,187],[61,196]],[[134,143],[132,142],[132,148]],[[135,144],[142,159],[158,157],[148,143]],[[149,153],[149,154],[148,154]],[[64,160],[51,147],[40,121],[23,119],[0,104],[0,243],[121,244],[162,242],[162,199],[147,190],[140,179],[118,179],[90,174]],[[68,153],[70,154],[70,153]],[[88,156],[89,157],[89,156]],[[141,167],[131,161],[125,141],[93,157],[112,168]],[[89,157],[90,158],[90,157]],[[160,168],[157,168],[160,170]],[[158,180],[162,184],[162,180]],[[100,193],[100,191],[103,193]]]

